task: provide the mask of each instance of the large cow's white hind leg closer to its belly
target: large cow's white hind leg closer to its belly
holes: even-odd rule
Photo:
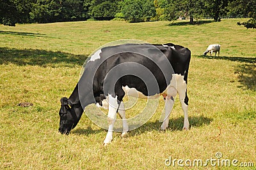
[[[173,104],[174,104],[174,99],[173,99],[173,97],[166,96],[164,102],[165,102],[165,104],[164,104],[165,117],[164,117],[164,122],[161,125],[161,130],[163,130],[163,131],[166,129],[166,127],[168,127],[170,113],[172,111]]]

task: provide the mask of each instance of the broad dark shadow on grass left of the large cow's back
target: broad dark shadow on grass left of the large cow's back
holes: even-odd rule
[[[31,65],[43,67],[74,67],[83,66],[86,55],[74,55],[64,52],[14,48],[0,48],[0,64]]]

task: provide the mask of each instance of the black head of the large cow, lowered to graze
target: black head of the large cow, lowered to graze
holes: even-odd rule
[[[61,108],[60,108],[60,128],[59,132],[61,134],[69,134],[71,129],[73,129],[79,119],[76,115],[76,108],[72,106],[69,102],[67,97],[63,97],[60,99]]]

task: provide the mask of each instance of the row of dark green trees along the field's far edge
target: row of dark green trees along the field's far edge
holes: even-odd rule
[[[48,23],[120,18],[129,22],[190,18],[250,17],[256,25],[255,0],[0,0],[0,24]]]

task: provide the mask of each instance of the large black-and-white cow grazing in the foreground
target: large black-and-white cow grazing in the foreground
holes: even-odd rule
[[[141,54],[141,52],[150,56],[145,57],[145,53]],[[87,62],[83,75],[71,96],[68,99],[61,98],[59,131],[61,134],[68,134],[76,127],[84,108],[94,103],[109,110],[109,128],[104,145],[110,143],[116,113],[122,118],[122,135],[129,130],[122,101],[124,96],[148,99],[163,96],[165,119],[161,129],[165,130],[174,104],[173,97],[177,93],[184,111],[183,129],[188,130],[187,79],[190,58],[191,52],[188,48],[172,43],[124,44],[101,48]],[[115,71],[115,67],[118,66],[121,69]],[[125,72],[122,73],[122,71]],[[145,76],[146,71],[150,74]]]

